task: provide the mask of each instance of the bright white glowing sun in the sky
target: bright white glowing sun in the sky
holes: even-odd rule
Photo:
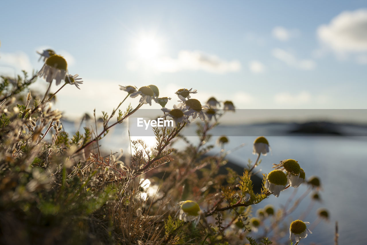
[[[153,60],[162,52],[162,40],[155,35],[141,35],[135,40],[135,53],[142,60]]]

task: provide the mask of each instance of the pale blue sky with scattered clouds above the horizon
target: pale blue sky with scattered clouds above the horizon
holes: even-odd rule
[[[84,81],[58,93],[69,117],[109,112],[127,94],[119,85],[149,84],[172,97],[167,108],[193,88],[202,104],[214,96],[239,109],[366,109],[366,1],[15,0],[1,9],[0,74],[39,71],[36,51],[52,48]]]

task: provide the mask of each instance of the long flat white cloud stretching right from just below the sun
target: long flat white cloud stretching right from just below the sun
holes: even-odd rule
[[[130,61],[127,63],[127,68],[137,70],[141,65],[141,61]],[[227,73],[236,72],[241,69],[239,61],[225,61],[216,55],[189,50],[179,51],[177,58],[158,57],[149,63],[143,63],[143,65],[157,72],[206,71],[211,73]]]

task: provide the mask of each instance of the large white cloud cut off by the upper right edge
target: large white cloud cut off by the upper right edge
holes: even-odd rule
[[[367,9],[342,12],[319,26],[317,35],[336,52],[367,51]]]

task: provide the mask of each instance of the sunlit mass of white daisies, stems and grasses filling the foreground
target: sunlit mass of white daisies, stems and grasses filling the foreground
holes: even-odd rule
[[[69,74],[65,58],[55,51],[37,53],[44,65],[32,78],[26,73],[24,78],[1,77],[0,243],[244,244],[247,239],[250,244],[271,244],[288,229],[277,233],[299,200],[289,209],[285,203],[281,209],[266,205],[252,212],[253,205],[302,184],[316,191],[312,202],[321,200],[320,179],[306,180],[294,159],[276,164],[262,180],[257,177],[260,157],[270,151],[264,136],[255,139],[257,159],[249,160],[244,171],[226,167],[230,138],[224,135],[217,139],[220,152],[209,155],[214,147],[210,131],[235,107],[214,97],[201,103],[193,98],[197,90],[172,91],[178,103],[167,108],[170,95],[160,97],[155,85],[120,86],[126,97],[110,113],[102,112],[98,119],[95,110],[92,116],[83,113],[82,120],[95,125],[69,134],[51,100],[66,84],[80,89],[83,81]],[[49,83],[45,93],[29,90],[37,78]],[[51,94],[52,83],[63,84]],[[120,109],[128,97],[136,98],[138,105]],[[155,147],[126,138],[131,154],[102,148],[112,127],[154,102],[176,123],[174,128],[153,129]],[[180,134],[197,118],[199,141],[194,144]],[[177,138],[188,143],[185,149],[172,148]],[[328,220],[326,209],[317,213],[320,220]],[[291,239],[306,238],[311,233],[306,224],[301,218],[292,222]]]

